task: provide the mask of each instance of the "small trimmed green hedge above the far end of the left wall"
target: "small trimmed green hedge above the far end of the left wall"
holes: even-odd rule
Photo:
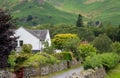
[[[53,54],[57,59],[59,60],[67,60],[70,61],[73,59],[73,54],[71,52],[60,52],[60,53],[55,53]]]

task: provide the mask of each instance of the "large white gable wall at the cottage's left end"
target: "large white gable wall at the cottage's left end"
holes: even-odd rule
[[[26,31],[24,28],[19,28],[18,30],[15,31],[15,34],[17,36],[19,36],[19,38],[17,39],[18,41],[18,46],[19,46],[19,41],[23,40],[23,44],[31,44],[32,45],[32,50],[40,50],[41,49],[41,42],[40,40],[35,37],[34,35],[32,35],[31,33],[29,33],[28,31]]]

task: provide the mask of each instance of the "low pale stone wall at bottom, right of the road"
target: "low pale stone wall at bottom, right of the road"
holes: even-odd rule
[[[71,76],[67,76],[66,78],[104,78],[106,75],[105,69],[104,68],[99,68],[99,69],[89,69],[80,72],[77,74],[76,72],[73,73]]]

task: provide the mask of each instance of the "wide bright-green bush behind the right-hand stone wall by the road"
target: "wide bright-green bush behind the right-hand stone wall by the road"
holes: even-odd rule
[[[104,53],[104,54],[98,54],[93,57],[86,58],[86,61],[84,62],[84,68],[94,69],[95,67],[105,67],[106,70],[109,70],[113,67],[115,67],[119,62],[119,56],[115,53]]]

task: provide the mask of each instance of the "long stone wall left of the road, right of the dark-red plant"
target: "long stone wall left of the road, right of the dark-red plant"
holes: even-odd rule
[[[47,74],[50,74],[50,73],[54,73],[54,72],[57,72],[57,71],[67,69],[67,68],[72,67],[72,66],[74,66],[78,63],[79,62],[77,62],[76,60],[73,60],[73,61],[70,61],[70,62],[64,61],[64,62],[61,62],[59,64],[47,65],[45,67],[25,68],[24,69],[24,78],[30,77],[30,76],[47,75]]]

